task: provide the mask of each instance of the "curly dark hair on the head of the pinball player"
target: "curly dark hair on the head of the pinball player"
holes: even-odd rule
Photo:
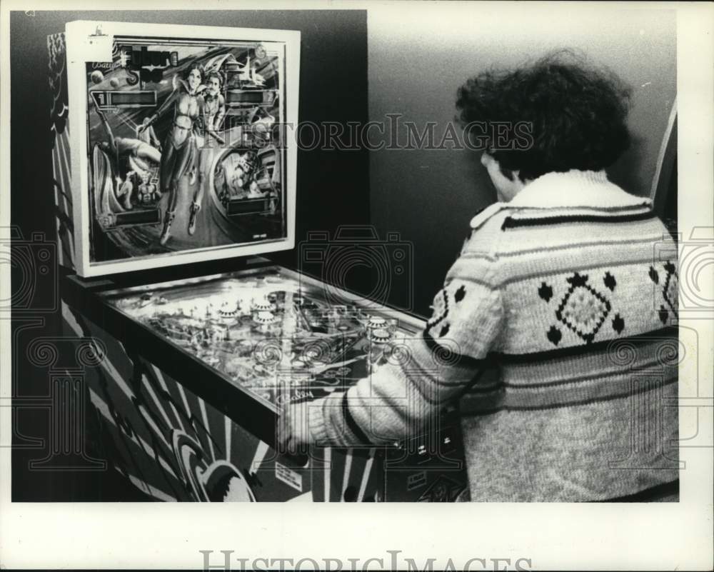
[[[465,129],[489,126],[486,151],[501,169],[519,171],[523,181],[550,171],[599,171],[630,146],[630,94],[613,72],[586,64],[572,51],[558,51],[466,81],[458,89],[457,119]],[[509,127],[499,129],[495,141],[493,127],[499,124]],[[514,129],[518,125],[521,129]]]

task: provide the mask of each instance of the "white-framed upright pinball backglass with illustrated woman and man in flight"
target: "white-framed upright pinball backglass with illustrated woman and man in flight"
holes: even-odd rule
[[[78,62],[84,276],[293,246],[294,158],[282,128],[294,120],[286,101],[296,109],[286,66],[298,64],[297,33],[176,34],[184,28],[139,25],[144,33],[125,35],[97,24],[88,34],[111,57],[85,50]]]

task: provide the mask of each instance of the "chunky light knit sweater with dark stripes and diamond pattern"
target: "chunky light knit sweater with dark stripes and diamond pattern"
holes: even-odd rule
[[[393,443],[460,400],[473,501],[595,501],[678,478],[676,245],[604,171],[471,221],[406,351],[308,408],[313,443]],[[478,373],[496,363],[496,381]]]

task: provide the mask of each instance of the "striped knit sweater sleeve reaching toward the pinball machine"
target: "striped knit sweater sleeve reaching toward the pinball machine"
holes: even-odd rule
[[[501,331],[495,266],[488,256],[461,256],[434,297],[420,335],[393,348],[387,363],[348,391],[309,403],[311,443],[394,443],[436,426],[446,401],[481,371]]]

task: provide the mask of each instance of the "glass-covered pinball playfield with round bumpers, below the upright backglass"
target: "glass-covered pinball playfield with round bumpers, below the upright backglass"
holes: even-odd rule
[[[114,306],[275,406],[351,386],[398,360],[423,324],[366,309],[279,266],[102,293]]]

